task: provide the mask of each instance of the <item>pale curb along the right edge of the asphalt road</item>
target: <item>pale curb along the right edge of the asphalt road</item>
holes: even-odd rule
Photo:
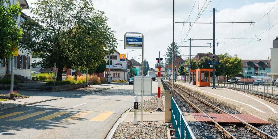
[[[156,95],[154,95],[153,97],[155,97]],[[153,98],[153,97],[151,97],[151,98]],[[151,99],[151,98],[149,98],[149,99]],[[146,99],[146,100],[144,100],[144,102],[145,101],[147,101],[147,100],[149,100],[149,99]],[[141,103],[138,103],[138,105],[139,104],[141,104]],[[113,137],[113,135],[114,135],[114,133],[116,132],[116,129],[118,128],[118,126],[119,126],[119,124],[121,123],[121,122],[123,122],[124,121],[124,119],[126,118],[126,116],[128,115],[128,113],[130,112],[130,110],[133,108],[134,106],[132,106],[132,107],[130,107],[128,110],[126,110],[120,117],[119,117],[119,119],[116,121],[116,123],[112,126],[112,128],[110,129],[110,131],[107,133],[107,135],[106,135],[106,139],[112,139],[112,137]]]

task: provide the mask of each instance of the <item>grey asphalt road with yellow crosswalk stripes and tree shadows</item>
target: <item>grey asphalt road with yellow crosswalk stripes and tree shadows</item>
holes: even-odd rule
[[[144,95],[144,100],[156,95],[156,90],[157,82],[153,82],[154,93]],[[134,96],[133,85],[125,84],[99,92],[2,110],[0,138],[103,139],[121,114],[134,105]]]

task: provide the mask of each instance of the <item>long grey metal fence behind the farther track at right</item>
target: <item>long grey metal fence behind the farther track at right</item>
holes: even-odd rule
[[[212,82],[210,82],[212,85]],[[245,89],[247,91],[258,91],[272,95],[278,95],[278,87],[276,86],[264,86],[244,83],[231,83],[231,82],[215,82],[216,86],[223,86],[227,88]]]

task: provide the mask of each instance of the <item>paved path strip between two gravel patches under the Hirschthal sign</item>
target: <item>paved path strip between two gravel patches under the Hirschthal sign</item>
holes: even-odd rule
[[[133,121],[133,114],[133,112],[129,112],[124,121]],[[141,112],[138,112],[137,121],[142,121],[141,116]],[[144,112],[143,116],[144,121],[164,121],[164,112]]]

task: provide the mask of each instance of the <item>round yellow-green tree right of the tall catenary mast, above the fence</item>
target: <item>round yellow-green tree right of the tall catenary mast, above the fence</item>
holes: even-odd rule
[[[242,70],[242,63],[241,59],[238,57],[225,57],[224,59],[220,60],[220,63],[223,64],[223,74],[227,76],[227,82],[229,76],[234,76],[238,74]]]

